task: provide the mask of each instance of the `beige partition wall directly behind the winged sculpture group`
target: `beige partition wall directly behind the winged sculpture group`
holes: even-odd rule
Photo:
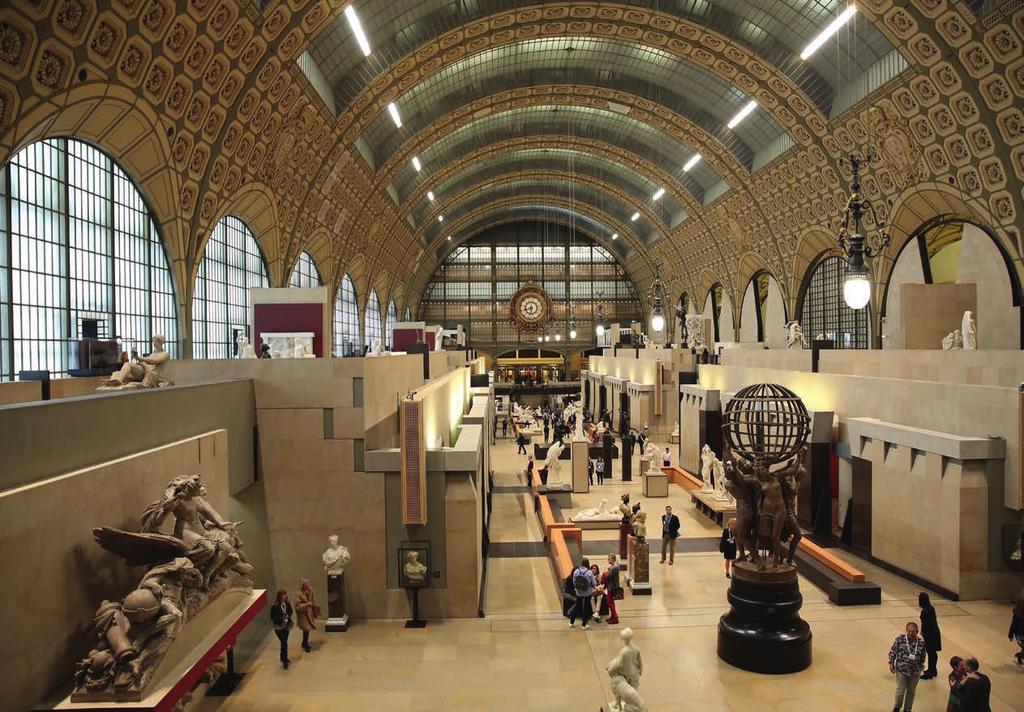
[[[227,433],[217,430],[31,485],[0,492],[0,560],[9,572],[0,593],[7,613],[0,636],[0,707],[30,709],[70,688],[75,663],[88,654],[96,606],[138,584],[129,568],[92,539],[94,527],[137,531],[147,504],[167,483],[198,473],[208,499],[227,516]],[[247,532],[240,528],[245,540]]]

